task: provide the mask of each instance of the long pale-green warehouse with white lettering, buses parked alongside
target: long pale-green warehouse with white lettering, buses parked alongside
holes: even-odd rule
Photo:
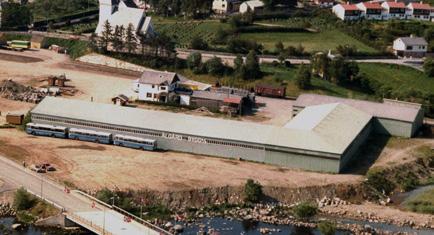
[[[32,122],[152,138],[157,148],[340,172],[371,130],[372,115],[333,103],[305,108],[285,127],[46,97]]]

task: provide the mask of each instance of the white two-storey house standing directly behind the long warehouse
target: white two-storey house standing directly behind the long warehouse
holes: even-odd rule
[[[138,100],[166,103],[179,81],[176,73],[145,71],[133,82],[133,90],[138,93]]]

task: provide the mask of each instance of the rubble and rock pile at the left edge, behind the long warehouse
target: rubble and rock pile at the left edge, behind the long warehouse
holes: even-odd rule
[[[29,103],[40,102],[46,94],[12,80],[0,82],[0,97]]]

